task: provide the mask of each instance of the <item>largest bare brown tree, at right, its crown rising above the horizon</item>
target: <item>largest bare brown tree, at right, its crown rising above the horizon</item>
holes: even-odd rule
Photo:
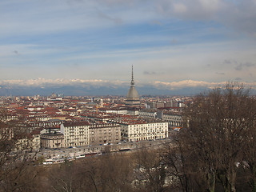
[[[183,130],[176,147],[178,166],[186,169],[182,172],[185,182],[180,180],[183,187],[188,187],[185,191],[195,186],[215,191],[217,181],[225,191],[236,190],[238,164],[242,162],[246,134],[254,122],[254,115],[248,110],[254,110],[252,100],[248,91],[236,83],[194,98],[183,115]],[[174,157],[169,157],[170,162]],[[175,163],[172,166],[177,169]]]

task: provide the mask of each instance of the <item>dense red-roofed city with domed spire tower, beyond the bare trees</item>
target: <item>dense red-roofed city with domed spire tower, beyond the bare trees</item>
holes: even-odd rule
[[[133,68],[131,74],[126,98],[71,97],[54,93],[2,97],[0,104],[6,110],[4,121],[18,121],[20,126],[26,127],[27,136],[21,139],[30,140],[33,150],[169,138],[169,132],[180,129],[182,109],[192,98],[139,98]],[[64,158],[61,160],[63,162]]]

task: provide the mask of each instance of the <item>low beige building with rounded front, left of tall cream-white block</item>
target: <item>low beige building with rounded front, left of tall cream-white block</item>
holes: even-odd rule
[[[42,148],[61,148],[63,147],[63,134],[41,134]]]

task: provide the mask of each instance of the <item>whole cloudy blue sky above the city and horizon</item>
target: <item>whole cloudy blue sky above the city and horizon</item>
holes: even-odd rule
[[[2,0],[0,92],[118,89],[132,65],[138,88],[256,88],[255,10],[256,0]]]

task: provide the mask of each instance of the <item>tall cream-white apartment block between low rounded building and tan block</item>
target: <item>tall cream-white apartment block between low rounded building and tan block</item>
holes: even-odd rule
[[[65,122],[61,125],[64,134],[64,147],[89,145],[88,122]]]

